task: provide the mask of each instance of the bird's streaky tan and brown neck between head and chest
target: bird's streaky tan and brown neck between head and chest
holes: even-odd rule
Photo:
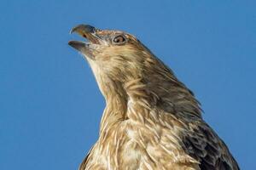
[[[107,104],[102,116],[101,133],[106,133],[113,125],[126,119],[143,121],[141,117],[147,116],[152,109],[180,118],[201,117],[197,100],[177,79],[151,76],[150,80],[154,82],[149,83],[145,78],[133,78],[125,83],[110,79],[99,82]]]

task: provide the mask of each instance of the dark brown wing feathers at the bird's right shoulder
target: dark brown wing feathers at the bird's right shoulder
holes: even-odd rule
[[[189,123],[183,132],[184,150],[199,161],[201,169],[238,170],[238,164],[230,150],[206,122]]]

